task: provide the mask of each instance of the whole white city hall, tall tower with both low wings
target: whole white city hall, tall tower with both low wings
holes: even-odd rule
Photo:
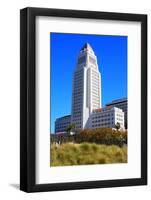
[[[114,106],[102,107],[101,73],[92,47],[86,43],[80,50],[73,75],[71,115],[56,119],[55,133],[64,132],[69,124],[76,129],[115,127],[124,129],[124,112]]]

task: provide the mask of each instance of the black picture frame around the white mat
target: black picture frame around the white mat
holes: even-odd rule
[[[37,16],[141,22],[141,178],[36,184],[35,19]],[[20,11],[20,190],[44,192],[147,184],[147,15],[48,8]]]

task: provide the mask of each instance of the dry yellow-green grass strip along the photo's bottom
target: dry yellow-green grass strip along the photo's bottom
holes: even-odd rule
[[[95,143],[51,145],[50,166],[126,163],[127,146]]]

